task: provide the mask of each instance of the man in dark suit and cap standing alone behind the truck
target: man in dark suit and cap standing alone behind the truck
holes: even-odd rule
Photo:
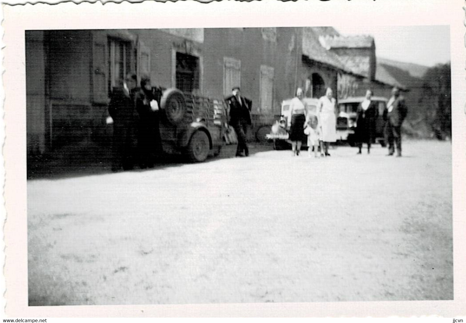
[[[249,149],[247,147],[247,126],[251,124],[251,107],[252,101],[242,97],[240,94],[240,88],[234,87],[232,89],[233,95],[226,98],[226,102],[230,106],[230,126],[233,127],[238,137],[238,147],[236,148],[236,156],[249,155]]]

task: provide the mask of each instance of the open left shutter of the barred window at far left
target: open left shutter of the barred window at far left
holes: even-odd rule
[[[107,35],[95,31],[92,35],[92,94],[96,104],[107,104],[108,93],[108,50]]]

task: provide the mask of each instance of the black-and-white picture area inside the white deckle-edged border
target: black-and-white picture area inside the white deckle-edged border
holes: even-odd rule
[[[25,27],[28,308],[456,300],[451,26],[268,22]]]

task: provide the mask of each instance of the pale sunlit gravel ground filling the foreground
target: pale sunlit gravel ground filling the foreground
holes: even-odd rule
[[[29,304],[450,300],[451,144],[386,152],[28,180]]]

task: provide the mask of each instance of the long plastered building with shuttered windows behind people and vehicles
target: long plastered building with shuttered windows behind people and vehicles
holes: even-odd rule
[[[391,87],[371,80],[373,70],[355,70],[340,49],[322,46],[325,37],[330,42],[339,34],[334,28],[27,31],[27,154],[105,142],[110,91],[128,72],[212,98],[240,86],[253,101],[250,139],[273,124],[298,86],[317,98],[327,87],[338,97],[374,82]]]

